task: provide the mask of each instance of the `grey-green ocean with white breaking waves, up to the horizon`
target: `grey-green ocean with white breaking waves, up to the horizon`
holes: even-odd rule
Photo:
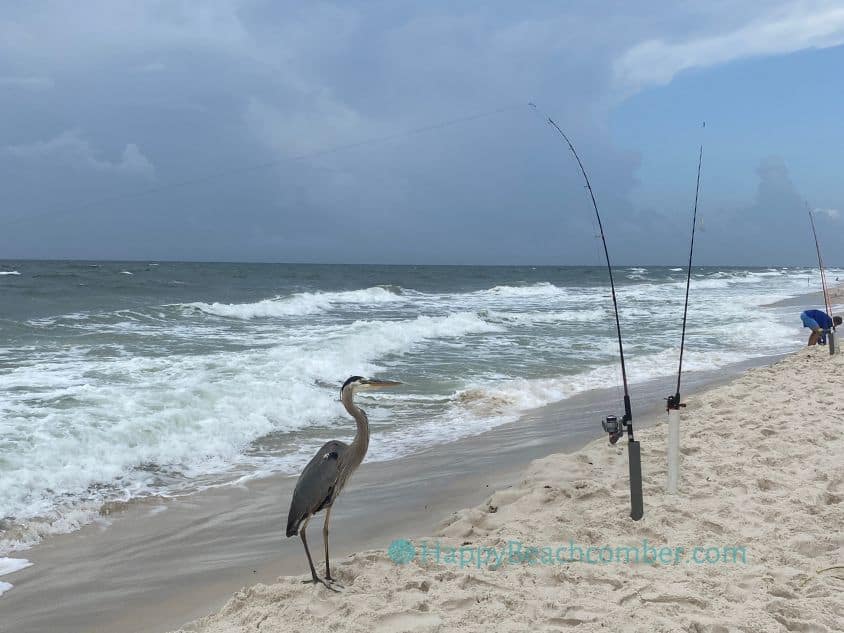
[[[692,279],[687,371],[805,344],[799,310],[761,306],[816,270]],[[616,283],[631,383],[667,394],[685,269]],[[133,499],[297,473],[352,437],[355,374],[404,383],[359,397],[370,461],[619,385],[606,269],[0,262],[0,554]]]

